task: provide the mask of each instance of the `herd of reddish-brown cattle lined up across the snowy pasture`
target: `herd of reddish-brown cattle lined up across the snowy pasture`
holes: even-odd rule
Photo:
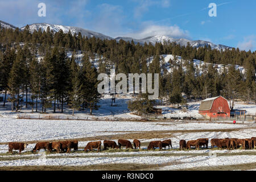
[[[208,138],[199,138],[196,140],[188,140],[187,142],[185,140],[180,140],[180,150],[191,149],[191,147],[195,147],[199,150],[201,147],[208,148],[209,139]],[[118,144],[115,143],[112,140],[104,140],[104,150],[107,148],[119,148],[126,147],[126,148],[132,148],[133,145],[129,140],[123,140],[119,139]],[[133,140],[134,148],[141,149],[141,142],[137,139]],[[210,140],[210,144],[212,145],[212,148],[214,146],[217,146],[218,148],[227,148],[228,150],[237,149],[242,147],[243,150],[246,149],[254,149],[256,147],[256,137],[246,138],[246,139],[237,139],[237,138],[225,138],[225,139],[217,139],[213,138]],[[27,147],[27,143],[21,143],[21,142],[10,142],[9,143],[9,152],[13,154],[13,150],[19,150],[19,154],[21,151],[24,150],[24,148]],[[147,150],[159,148],[159,150],[166,149],[168,146],[168,149],[170,149],[170,146],[172,148],[172,142],[171,139],[163,140],[163,141],[151,141],[148,144]],[[78,140],[67,140],[67,141],[60,141],[60,142],[38,142],[36,143],[33,152],[40,151],[40,149],[44,149],[47,151],[53,151],[55,150],[57,153],[60,151],[63,152],[71,152],[71,149],[73,148],[74,151],[78,150]],[[93,148],[96,148],[97,151],[101,150],[101,141],[97,142],[89,142],[85,148],[84,151],[91,151]]]

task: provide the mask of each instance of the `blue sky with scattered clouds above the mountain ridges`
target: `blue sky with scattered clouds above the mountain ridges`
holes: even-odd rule
[[[46,17],[38,4],[46,4]],[[208,15],[216,3],[217,17]],[[23,27],[31,23],[76,26],[112,36],[208,40],[215,44],[256,50],[256,1],[239,0],[0,0],[0,20]]]

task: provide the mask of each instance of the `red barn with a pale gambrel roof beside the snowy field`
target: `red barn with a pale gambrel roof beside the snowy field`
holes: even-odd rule
[[[229,118],[228,100],[221,96],[207,98],[201,102],[199,114],[204,115],[206,118]]]

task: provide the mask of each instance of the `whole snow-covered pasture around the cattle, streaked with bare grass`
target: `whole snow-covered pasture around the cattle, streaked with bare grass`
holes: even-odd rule
[[[255,137],[256,126],[254,123],[241,123],[233,125],[228,122],[116,122],[116,121],[59,121],[1,118],[0,142],[73,139],[85,137],[97,137],[100,135],[115,135],[123,133],[147,131],[163,131],[173,135],[172,147],[179,148],[179,140],[191,140],[197,138],[250,138]],[[230,131],[218,131],[230,129]],[[192,131],[191,130],[196,130]],[[201,132],[201,131],[202,132]],[[216,131],[204,131],[216,130]],[[185,132],[187,131],[187,132]],[[8,151],[7,144],[0,145],[0,167],[10,166],[95,166],[114,164],[154,165],[154,170],[186,169],[194,167],[214,167],[224,165],[240,165],[256,163],[256,150],[250,150],[250,155],[239,154],[248,150],[200,150],[200,151],[147,151],[143,143],[151,140],[163,140],[166,138],[145,138],[142,134],[138,138],[142,142],[141,151],[132,152],[104,152],[99,153],[72,153],[50,154],[43,151],[29,155],[3,155]],[[130,139],[132,141],[132,139]],[[117,140],[115,140],[117,142]],[[79,142],[79,147],[85,147],[89,141]],[[103,142],[103,140],[102,140]],[[35,144],[29,144],[23,151],[31,151]],[[214,152],[221,156],[212,155]],[[1,155],[2,154],[2,155]],[[224,155],[227,154],[227,155]],[[231,155],[230,155],[231,154]],[[159,156],[160,155],[160,156]],[[255,167],[254,167],[255,168]],[[239,168],[238,168],[239,169]]]

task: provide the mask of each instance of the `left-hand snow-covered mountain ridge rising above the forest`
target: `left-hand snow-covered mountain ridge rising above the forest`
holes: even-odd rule
[[[96,37],[100,39],[113,39],[110,36],[106,36],[104,34],[100,34],[98,32],[90,31],[90,30],[85,30],[84,28],[79,28],[79,27],[69,27],[69,26],[63,26],[59,24],[49,24],[49,23],[34,23],[28,25],[30,27],[30,31],[34,32],[35,30],[38,31],[39,28],[41,28],[42,31],[46,31],[47,27],[50,28],[53,32],[58,32],[59,30],[63,30],[64,33],[68,33],[70,30],[72,34],[78,34],[81,32],[82,36],[87,36],[88,38],[90,37]],[[24,30],[25,27],[20,28],[21,30]]]

